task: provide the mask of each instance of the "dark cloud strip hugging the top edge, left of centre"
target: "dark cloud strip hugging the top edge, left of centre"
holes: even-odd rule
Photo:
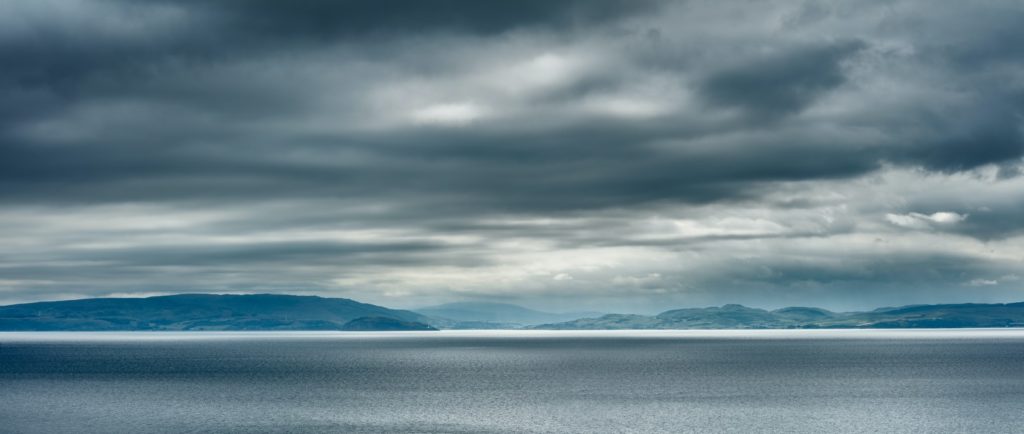
[[[282,3],[273,0],[186,0],[166,3],[206,9],[221,19],[221,24],[257,38],[332,38],[368,34],[404,36],[438,31],[493,35],[522,27],[564,29],[594,26],[651,11],[659,2],[304,0]]]

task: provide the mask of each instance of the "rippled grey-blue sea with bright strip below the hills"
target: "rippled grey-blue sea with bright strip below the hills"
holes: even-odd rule
[[[3,433],[1024,433],[1024,330],[0,333]]]

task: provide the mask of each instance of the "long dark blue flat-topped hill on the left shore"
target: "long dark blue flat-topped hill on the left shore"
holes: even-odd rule
[[[435,330],[431,318],[342,298],[183,294],[0,306],[0,331]]]

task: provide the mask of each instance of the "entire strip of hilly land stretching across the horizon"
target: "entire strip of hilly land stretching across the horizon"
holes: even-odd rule
[[[0,306],[0,331],[431,331],[438,329],[947,329],[1024,327],[1024,303],[937,304],[833,312],[727,304],[656,315],[540,312],[500,303],[454,303],[418,312],[343,298],[183,294]],[[581,313],[580,315],[586,315]],[[539,323],[545,318],[551,322]]]

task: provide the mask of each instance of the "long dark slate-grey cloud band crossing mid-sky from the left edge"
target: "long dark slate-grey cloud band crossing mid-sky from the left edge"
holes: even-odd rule
[[[174,143],[173,131],[160,138],[170,141],[163,147],[134,142],[10,146],[0,160],[0,197],[88,203],[371,199],[382,193],[416,201],[433,194],[438,201],[451,197],[460,202],[459,212],[471,207],[477,207],[476,212],[530,212],[744,199],[759,192],[760,182],[847,177],[877,167],[870,154],[823,147],[798,137],[788,142],[761,140],[763,147],[738,154],[667,153],[646,144],[659,131],[671,137],[673,131],[665,124],[646,124],[646,131],[616,126],[538,133],[398,130],[385,139],[341,136],[325,146],[295,138],[288,144],[294,153],[326,159],[337,155],[336,164],[278,158],[273,153],[280,143]],[[118,133],[110,135],[120,141]],[[196,137],[182,138],[190,139]],[[126,141],[135,140],[144,138]],[[376,163],[345,164],[343,150],[350,146],[372,154]]]

